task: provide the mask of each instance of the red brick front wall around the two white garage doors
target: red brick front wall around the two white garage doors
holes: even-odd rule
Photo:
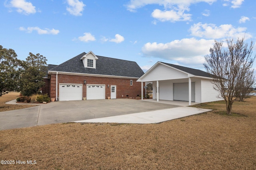
[[[86,97],[86,85],[84,85],[84,80],[86,80],[86,84],[104,84],[106,99],[108,96],[110,96],[111,85],[116,85],[116,98],[141,97],[141,82],[136,82],[137,79],[106,78],[106,77],[58,74],[58,84],[60,83],[83,84],[83,97]],[[132,80],[132,86],[130,86],[130,80]],[[144,95],[145,95],[145,92],[144,92]],[[51,74],[50,98],[56,98],[56,74]]]

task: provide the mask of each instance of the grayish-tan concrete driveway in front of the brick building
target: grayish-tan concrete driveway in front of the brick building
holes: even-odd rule
[[[40,106],[0,112],[0,130],[97,119],[180,107],[132,99],[50,102]]]

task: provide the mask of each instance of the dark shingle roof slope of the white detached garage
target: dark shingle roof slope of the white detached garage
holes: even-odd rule
[[[164,62],[160,62],[160,63],[164,63]],[[188,68],[188,67],[184,67],[184,66],[178,66],[178,65],[169,64],[169,63],[164,63],[164,64],[166,64],[168,66],[172,66],[172,67],[177,68],[179,70],[182,70],[184,72],[193,74],[195,76],[202,76],[202,77],[209,77],[209,78],[215,77],[214,75],[209,74],[208,72],[204,72],[202,70],[198,70],[198,69],[194,69],[194,68]]]

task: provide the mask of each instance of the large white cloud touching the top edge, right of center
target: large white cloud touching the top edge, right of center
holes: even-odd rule
[[[190,21],[192,14],[186,14],[185,11],[189,11],[191,4],[199,2],[206,2],[212,4],[217,0],[130,0],[126,6],[131,12],[135,12],[138,8],[150,4],[158,4],[164,6],[164,10],[155,9],[151,16],[160,21]],[[153,24],[156,24],[154,21]]]

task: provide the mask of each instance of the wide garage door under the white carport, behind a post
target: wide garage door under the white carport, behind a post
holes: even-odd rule
[[[191,82],[191,102],[195,102],[195,82]],[[173,84],[173,99],[188,101],[188,83]]]

